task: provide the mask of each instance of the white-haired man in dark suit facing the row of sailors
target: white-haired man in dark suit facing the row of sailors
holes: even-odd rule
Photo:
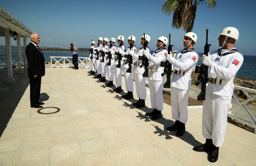
[[[40,36],[33,33],[30,36],[30,44],[26,47],[28,61],[28,77],[30,79],[30,106],[31,108],[43,108],[40,103],[41,77],[45,74],[44,55],[38,47]]]

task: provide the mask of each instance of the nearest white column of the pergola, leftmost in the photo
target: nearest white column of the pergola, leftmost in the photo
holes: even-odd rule
[[[7,60],[7,83],[15,82],[12,74],[12,52],[11,52],[11,38],[9,28],[4,28],[5,45],[6,45],[6,60]]]

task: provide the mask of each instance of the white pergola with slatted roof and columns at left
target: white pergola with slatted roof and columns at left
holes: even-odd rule
[[[25,48],[27,46],[27,38],[30,38],[31,32],[25,25],[23,25],[18,19],[10,15],[0,6],[0,36],[5,37],[6,45],[6,61],[7,61],[7,83],[15,82],[12,73],[12,53],[11,53],[11,37],[9,31],[15,31],[18,33],[17,38],[17,53],[18,53],[18,74],[23,73],[21,63],[21,37],[24,43],[24,68],[28,68],[27,57],[25,54]]]

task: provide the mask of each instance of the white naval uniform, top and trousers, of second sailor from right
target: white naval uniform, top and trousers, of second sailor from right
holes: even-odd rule
[[[173,64],[171,80],[172,118],[176,121],[186,123],[188,121],[188,95],[191,87],[191,73],[197,64],[199,55],[194,48],[182,50],[176,54],[176,59],[171,58],[169,63]],[[183,73],[185,72],[184,76]]]

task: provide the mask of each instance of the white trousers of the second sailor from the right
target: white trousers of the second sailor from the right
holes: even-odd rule
[[[171,86],[172,118],[186,123],[188,121],[189,90]]]

